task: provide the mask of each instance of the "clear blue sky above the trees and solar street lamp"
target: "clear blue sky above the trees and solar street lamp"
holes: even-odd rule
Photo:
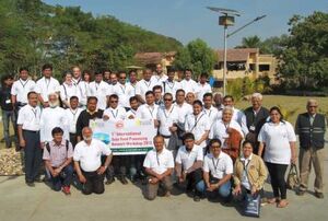
[[[234,9],[241,12],[229,33],[257,16],[267,16],[231,36],[227,47],[239,45],[243,37],[261,39],[288,34],[289,19],[294,14],[328,12],[327,0],[43,0],[56,5],[81,7],[95,16],[110,14],[120,21],[176,38],[183,44],[201,38],[212,48],[223,47],[223,27],[219,14],[206,7]]]

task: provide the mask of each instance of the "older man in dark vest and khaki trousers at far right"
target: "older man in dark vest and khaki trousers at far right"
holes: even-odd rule
[[[300,174],[301,186],[297,191],[303,196],[307,190],[308,175],[311,164],[315,170],[315,196],[324,198],[324,147],[327,121],[324,115],[318,114],[318,102],[308,100],[306,105],[307,112],[300,114],[296,120],[296,135],[300,137]]]

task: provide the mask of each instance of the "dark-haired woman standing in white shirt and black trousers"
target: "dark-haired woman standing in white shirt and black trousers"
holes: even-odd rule
[[[271,177],[274,196],[268,202],[277,202],[278,208],[284,208],[289,205],[284,174],[289,164],[296,162],[296,136],[293,126],[283,120],[279,107],[270,109],[270,121],[261,128],[258,141],[260,142],[258,155],[266,150],[263,160]]]

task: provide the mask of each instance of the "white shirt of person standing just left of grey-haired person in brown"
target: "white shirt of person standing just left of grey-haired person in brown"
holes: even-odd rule
[[[185,130],[186,132],[192,132],[195,136],[195,140],[199,140],[206,131],[211,129],[211,123],[209,117],[201,112],[199,115],[195,116],[194,114],[189,114],[186,117]],[[200,147],[204,148],[207,146],[207,141],[202,141]]]

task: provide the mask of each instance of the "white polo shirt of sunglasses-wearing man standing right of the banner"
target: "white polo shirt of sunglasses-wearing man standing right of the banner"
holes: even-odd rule
[[[172,136],[169,127],[172,127],[173,124],[177,124],[179,118],[177,108],[174,105],[172,105],[169,109],[160,107],[156,118],[160,121],[160,135]]]

